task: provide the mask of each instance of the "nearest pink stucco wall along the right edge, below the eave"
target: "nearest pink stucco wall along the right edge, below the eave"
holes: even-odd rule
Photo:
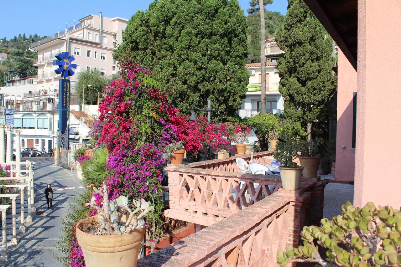
[[[399,0],[358,0],[357,206],[401,206],[399,10]]]

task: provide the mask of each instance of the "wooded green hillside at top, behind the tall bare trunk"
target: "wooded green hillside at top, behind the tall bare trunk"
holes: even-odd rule
[[[272,0],[263,0],[263,4],[271,4]],[[248,38],[248,58],[247,63],[259,63],[261,58],[260,53],[260,13],[259,0],[251,0],[250,8],[247,9],[247,38]],[[284,16],[276,11],[269,11],[265,8],[265,36],[271,38],[275,36],[279,25],[284,21]]]

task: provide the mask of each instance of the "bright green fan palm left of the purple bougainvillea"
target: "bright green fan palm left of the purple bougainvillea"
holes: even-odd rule
[[[100,187],[107,178],[106,163],[109,154],[106,148],[93,152],[93,157],[82,166],[83,182]]]

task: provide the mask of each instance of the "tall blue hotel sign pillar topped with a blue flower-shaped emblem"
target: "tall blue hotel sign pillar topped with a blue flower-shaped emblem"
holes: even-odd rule
[[[70,116],[70,91],[71,81],[68,78],[74,75],[73,69],[77,68],[77,64],[71,62],[75,60],[68,52],[58,53],[56,59],[53,60],[53,65],[59,68],[55,69],[55,73],[61,74],[63,79],[59,81],[59,130],[65,136],[64,142],[59,141],[59,147],[69,149],[69,116]]]

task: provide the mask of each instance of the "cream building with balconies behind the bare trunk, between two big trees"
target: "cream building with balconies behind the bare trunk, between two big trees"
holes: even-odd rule
[[[266,113],[282,113],[284,110],[284,98],[278,91],[280,78],[277,70],[277,61],[282,53],[284,51],[279,49],[274,38],[266,40]],[[241,118],[259,114],[261,103],[261,63],[249,63],[245,67],[249,71],[250,77],[246,97],[239,110]]]

